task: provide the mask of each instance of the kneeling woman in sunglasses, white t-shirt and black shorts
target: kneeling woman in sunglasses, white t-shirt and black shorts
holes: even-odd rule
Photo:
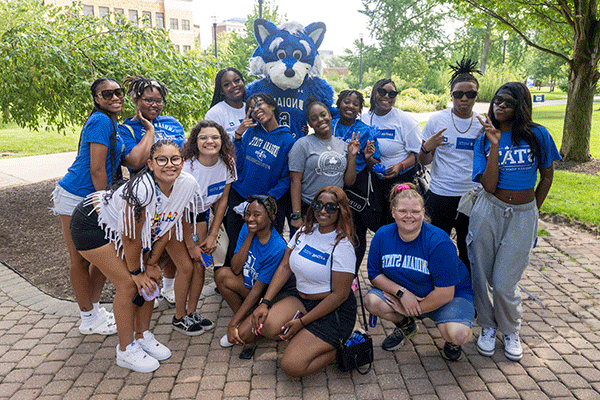
[[[340,342],[352,334],[355,238],[346,194],[337,186],[325,186],[315,195],[305,224],[288,243],[254,310],[252,325],[257,334],[290,342],[281,360],[281,368],[290,375],[308,375],[332,363]],[[274,303],[292,273],[298,297]]]

